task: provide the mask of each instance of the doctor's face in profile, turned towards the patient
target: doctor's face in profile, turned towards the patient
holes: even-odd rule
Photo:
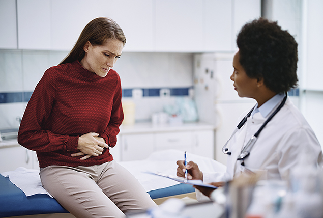
[[[240,97],[254,98],[257,94],[257,78],[250,78],[240,64],[239,51],[233,57],[233,73],[230,79],[234,82],[234,90]]]

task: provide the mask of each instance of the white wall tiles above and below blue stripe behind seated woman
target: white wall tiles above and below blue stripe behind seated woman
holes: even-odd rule
[[[60,63],[66,51],[0,49],[0,93],[33,92],[46,69]],[[192,87],[193,55],[190,53],[124,52],[114,69],[122,89]],[[0,96],[1,97],[1,96]],[[188,97],[188,96],[186,96]],[[136,103],[137,121],[148,121],[154,112],[174,104],[177,97],[142,97]],[[0,129],[18,128],[27,102],[0,103]]]

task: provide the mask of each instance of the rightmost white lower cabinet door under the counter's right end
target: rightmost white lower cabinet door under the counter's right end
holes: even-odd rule
[[[214,159],[214,131],[203,130],[193,132],[192,151],[196,155]]]

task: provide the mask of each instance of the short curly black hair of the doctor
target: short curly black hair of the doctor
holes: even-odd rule
[[[297,42],[277,22],[259,18],[246,23],[237,37],[240,64],[251,78],[263,78],[275,93],[297,86]]]

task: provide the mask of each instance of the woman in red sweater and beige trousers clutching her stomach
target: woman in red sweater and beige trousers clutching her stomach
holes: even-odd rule
[[[21,120],[19,144],[37,152],[44,188],[76,217],[156,207],[109,152],[124,118],[120,77],[111,68],[125,43],[116,22],[92,20],[69,55],[46,70]]]

